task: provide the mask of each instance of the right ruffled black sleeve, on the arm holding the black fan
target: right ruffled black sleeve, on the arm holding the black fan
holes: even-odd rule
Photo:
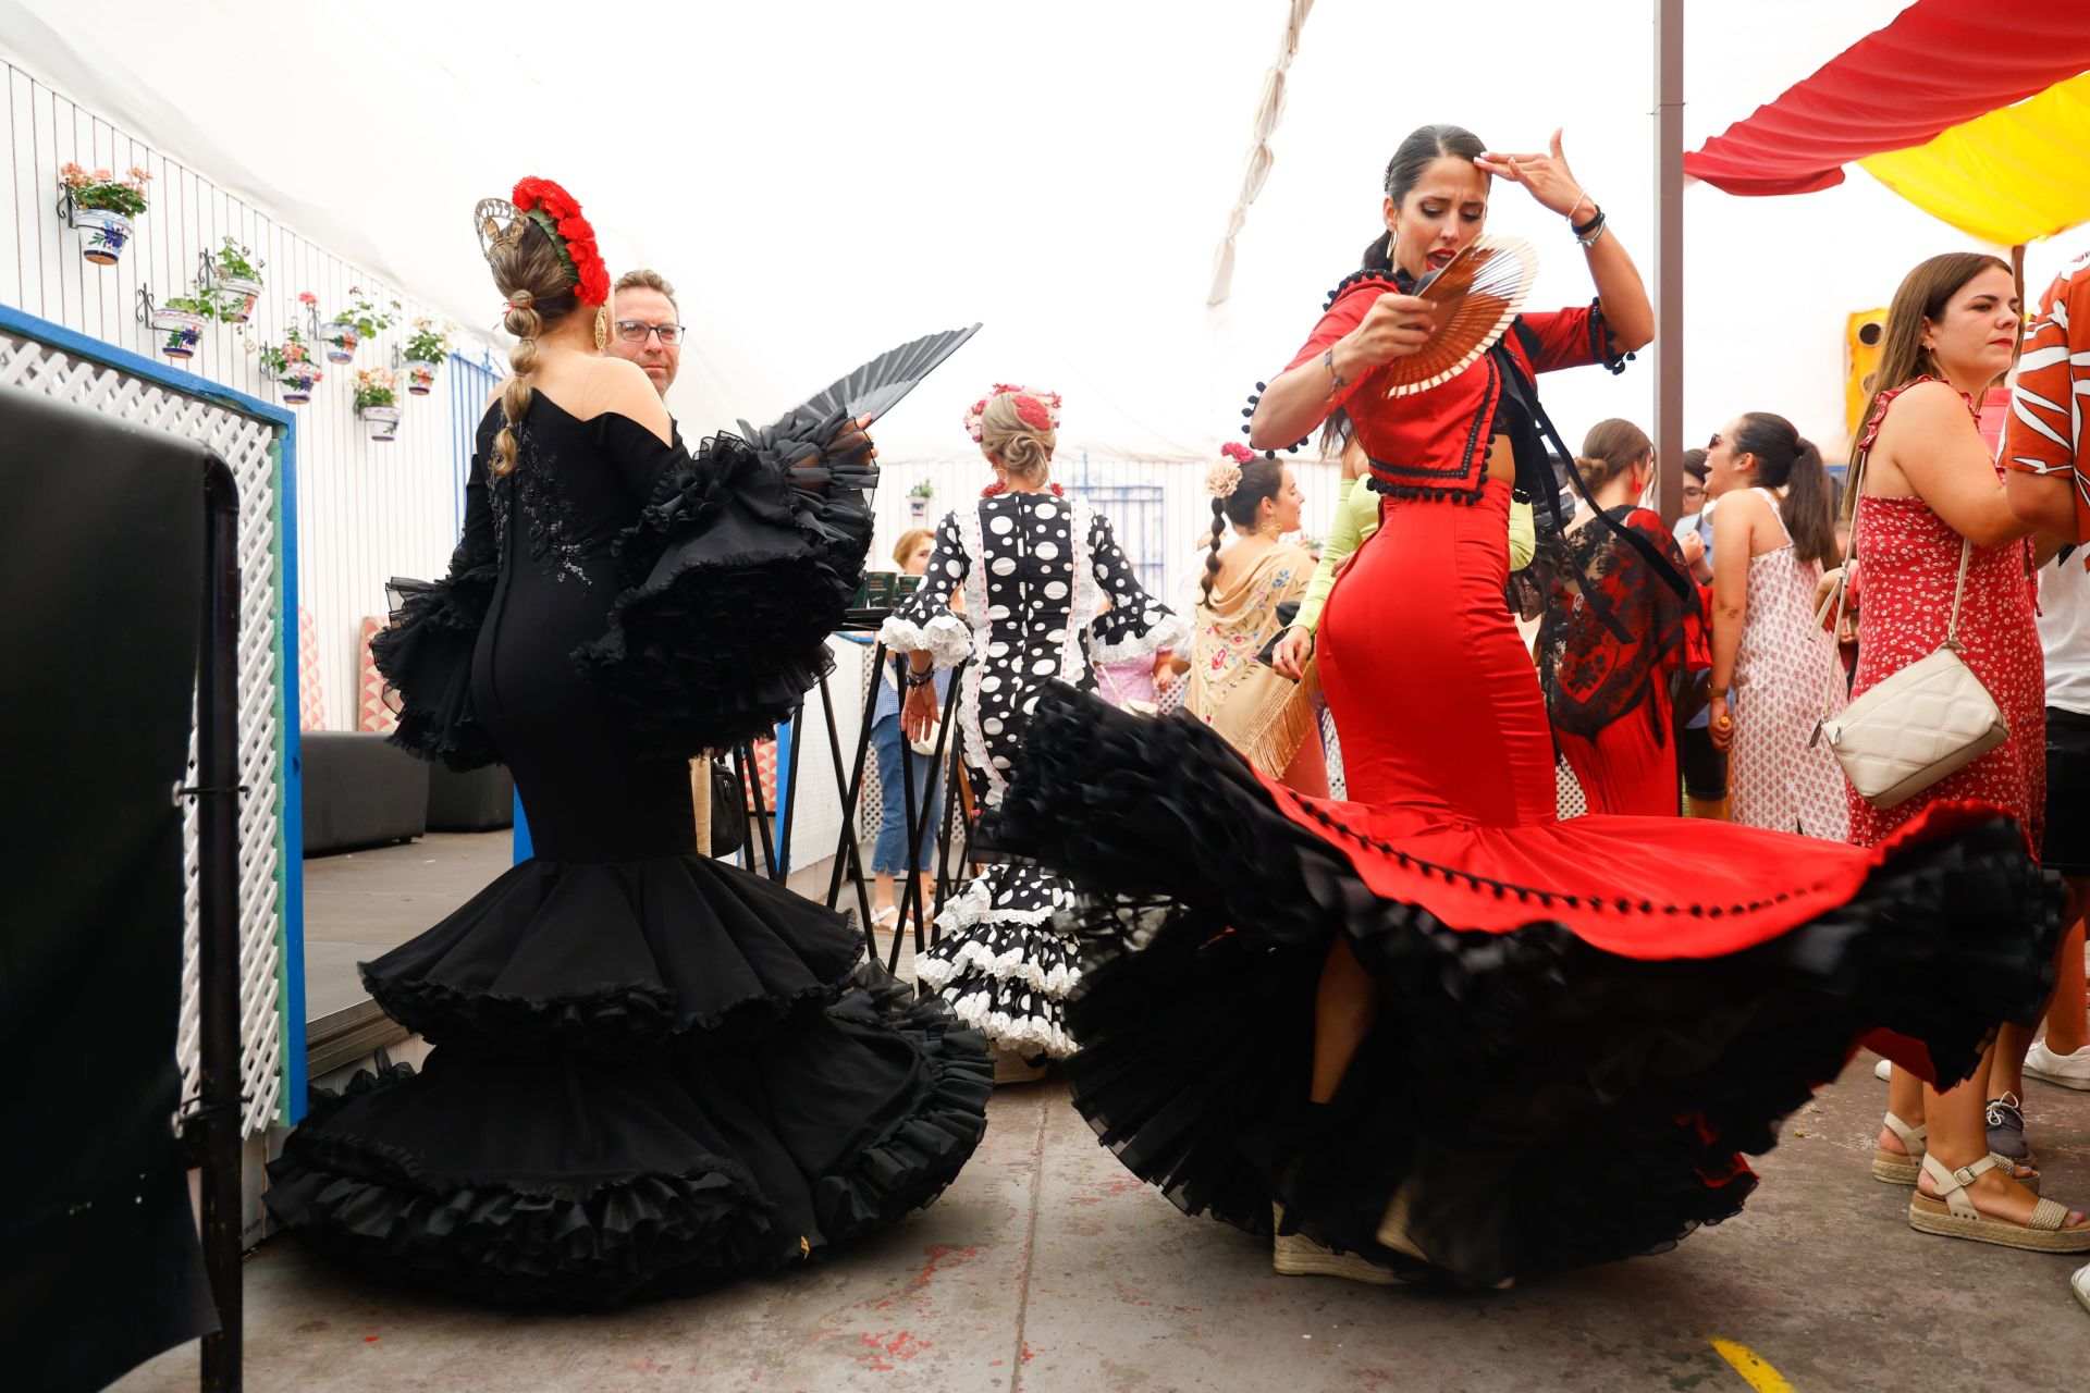
[[[792,485],[746,441],[717,434],[621,539],[625,591],[575,662],[669,756],[767,735],[834,668],[828,635],[863,581],[865,495]],[[846,474],[849,482],[874,472]]]

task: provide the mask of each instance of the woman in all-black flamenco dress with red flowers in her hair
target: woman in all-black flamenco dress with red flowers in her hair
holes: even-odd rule
[[[571,198],[525,182],[516,205],[489,249],[516,378],[479,426],[449,576],[410,587],[374,652],[397,741],[506,762],[537,854],[364,965],[437,1048],[318,1094],[265,1199],[387,1280],[600,1305],[928,1203],[984,1132],[993,1067],[840,917],[694,846],[688,754],[775,721],[828,662],[872,530],[865,436],[683,453],[644,374],[589,351],[608,286]]]

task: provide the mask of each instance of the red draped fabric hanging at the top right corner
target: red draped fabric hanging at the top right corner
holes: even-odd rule
[[[2082,0],[1917,0],[1756,115],[1685,155],[1731,194],[1808,194],[2090,71]],[[2077,155],[2080,159],[2080,155]]]

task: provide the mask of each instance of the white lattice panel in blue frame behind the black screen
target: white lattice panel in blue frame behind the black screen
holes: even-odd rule
[[[153,382],[0,326],[0,388],[23,388],[107,411],[125,422],[201,441],[232,468],[240,491],[240,1094],[245,1132],[265,1128],[282,1094],[282,654],[278,576],[278,445],[276,426],[226,401]],[[199,518],[201,526],[201,518]],[[196,752],[190,733],[188,773]],[[169,789],[169,798],[173,792]],[[196,827],[184,800],[182,842],[188,877],[182,938],[182,1096],[196,1094]]]

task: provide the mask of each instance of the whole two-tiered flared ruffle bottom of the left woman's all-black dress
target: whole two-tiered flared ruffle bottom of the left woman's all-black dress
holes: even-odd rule
[[[316,1090],[265,1201],[385,1280],[702,1289],[932,1201],[986,1128],[976,1034],[832,913],[700,856],[522,863],[364,982],[437,1048]]]

